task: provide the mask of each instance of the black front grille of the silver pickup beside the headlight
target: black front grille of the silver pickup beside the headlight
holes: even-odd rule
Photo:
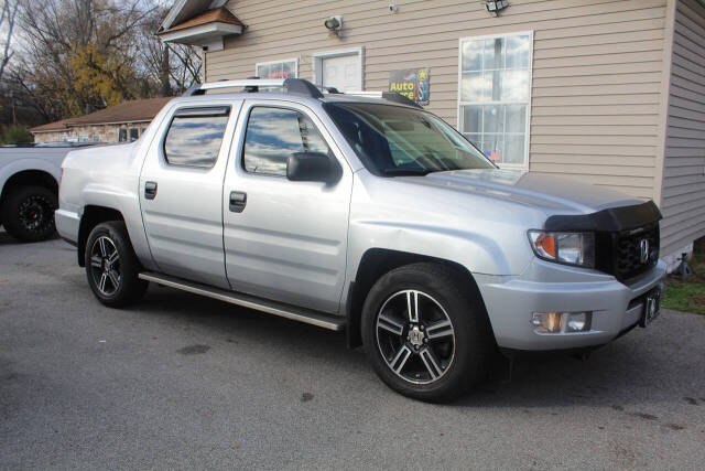
[[[642,245],[648,244],[647,258],[642,258]],[[625,280],[641,275],[659,261],[659,225],[617,234],[614,237],[614,274]]]

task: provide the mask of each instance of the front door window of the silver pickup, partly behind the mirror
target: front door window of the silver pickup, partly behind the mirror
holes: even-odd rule
[[[286,160],[294,152],[328,153],[328,144],[315,125],[293,109],[256,107],[245,136],[245,170],[286,175]]]

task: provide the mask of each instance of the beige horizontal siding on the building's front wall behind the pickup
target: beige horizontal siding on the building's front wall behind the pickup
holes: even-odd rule
[[[448,0],[231,1],[247,30],[207,54],[208,81],[254,74],[258,62],[364,47],[366,89],[389,72],[431,67],[431,105],[457,124],[458,39],[534,32],[529,168],[654,197],[665,0],[513,0],[499,18],[482,3]],[[323,21],[343,15],[341,38]]]

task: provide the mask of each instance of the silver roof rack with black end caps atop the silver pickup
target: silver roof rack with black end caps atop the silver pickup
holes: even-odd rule
[[[205,95],[207,90],[214,90],[218,88],[245,88],[248,93],[257,93],[260,87],[265,88],[282,88],[283,93],[292,95],[307,96],[311,98],[323,98],[323,92],[328,95],[347,95],[359,96],[366,98],[381,98],[389,101],[394,101],[400,105],[412,106],[414,108],[422,108],[416,101],[409,99],[406,96],[397,92],[338,92],[335,87],[323,87],[312,84],[303,78],[258,78],[250,77],[243,81],[229,81],[224,79],[219,82],[208,82],[205,84],[194,84],[186,92],[184,96]],[[323,92],[322,92],[323,90]]]

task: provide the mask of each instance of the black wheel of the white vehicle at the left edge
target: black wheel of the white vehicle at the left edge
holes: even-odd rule
[[[22,242],[46,240],[56,233],[54,211],[58,207],[56,195],[44,186],[18,186],[2,204],[4,228]]]

